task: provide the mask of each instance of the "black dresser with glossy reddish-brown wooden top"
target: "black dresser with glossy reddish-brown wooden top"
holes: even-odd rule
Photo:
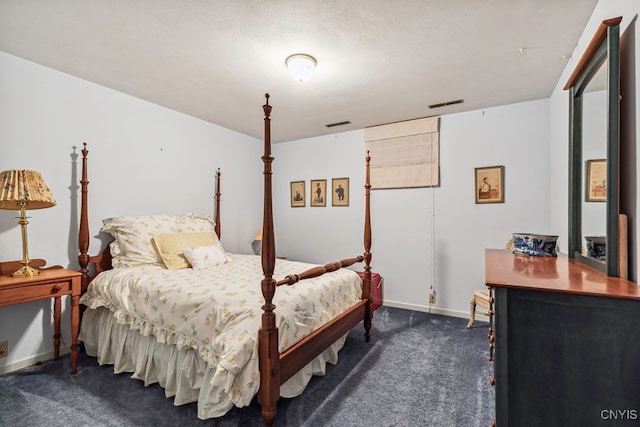
[[[496,425],[640,425],[640,290],[563,254],[485,251]]]

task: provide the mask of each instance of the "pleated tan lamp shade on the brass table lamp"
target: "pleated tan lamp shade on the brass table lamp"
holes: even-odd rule
[[[40,172],[6,170],[0,173],[0,209],[44,209],[56,205]]]

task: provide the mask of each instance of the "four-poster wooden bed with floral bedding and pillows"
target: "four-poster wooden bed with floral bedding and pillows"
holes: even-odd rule
[[[362,255],[326,265],[276,262],[268,94],[263,110],[261,256],[229,254],[220,244],[219,170],[215,221],[193,214],[107,218],[102,231],[114,240],[89,256],[85,144],[80,339],[100,364],[133,372],[145,384],[158,382],[175,396],[174,404],[197,401],[199,418],[249,405],[257,393],[264,422],[272,425],[280,396],[299,395],[327,362],[336,363],[347,333],[360,321],[369,341],[370,184],[367,154]],[[343,268],[361,261],[364,279]]]

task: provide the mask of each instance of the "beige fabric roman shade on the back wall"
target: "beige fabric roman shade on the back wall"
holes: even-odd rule
[[[371,188],[439,186],[439,128],[439,117],[365,128]]]

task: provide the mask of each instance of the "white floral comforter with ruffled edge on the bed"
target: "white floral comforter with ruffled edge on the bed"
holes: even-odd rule
[[[106,307],[119,323],[153,335],[158,342],[192,348],[216,367],[212,386],[248,404],[259,388],[257,336],[264,304],[260,257],[231,255],[232,262],[207,270],[158,266],[117,268],[100,273],[80,302]],[[278,259],[274,278],[313,265]],[[280,350],[345,311],[361,297],[358,274],[340,269],[293,286],[280,286],[273,303]]]

